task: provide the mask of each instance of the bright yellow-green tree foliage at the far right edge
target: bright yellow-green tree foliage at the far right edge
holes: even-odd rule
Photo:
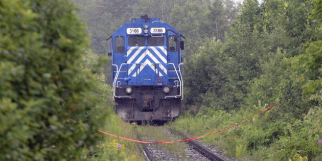
[[[306,52],[292,59],[292,67],[297,72],[297,81],[303,85],[304,92],[308,95],[318,96],[322,89],[322,16],[321,1],[312,2],[313,10],[309,16],[311,19],[311,40],[306,43]],[[317,97],[318,99],[318,97]]]

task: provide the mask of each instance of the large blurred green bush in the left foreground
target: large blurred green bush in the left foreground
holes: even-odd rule
[[[0,159],[79,160],[104,109],[80,68],[88,42],[75,7],[1,0],[0,15]]]

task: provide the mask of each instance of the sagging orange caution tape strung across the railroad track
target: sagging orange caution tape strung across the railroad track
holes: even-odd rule
[[[201,136],[193,137],[193,138],[190,138],[190,139],[179,140],[179,141],[145,142],[145,141],[139,141],[139,140],[128,139],[128,138],[126,138],[126,137],[121,137],[121,136],[118,136],[118,135],[114,135],[114,134],[111,134],[111,133],[108,133],[108,132],[105,132],[105,131],[102,131],[102,130],[98,130],[98,131],[99,131],[99,132],[101,132],[101,133],[104,133],[104,134],[110,135],[110,136],[118,137],[118,138],[123,139],[123,140],[131,141],[131,142],[136,142],[136,143],[144,143],[144,144],[169,144],[169,143],[178,143],[178,142],[188,142],[188,141],[197,140],[197,139],[200,139],[200,138],[205,137],[205,136],[209,136],[209,135],[212,135],[212,134],[215,134],[215,133],[219,133],[219,132],[222,132],[222,131],[225,131],[225,130],[231,129],[231,128],[235,127],[235,126],[238,126],[238,125],[240,125],[240,124],[242,124],[242,123],[244,123],[244,122],[246,122],[246,121],[248,121],[248,120],[252,119],[252,118],[255,118],[255,117],[259,116],[260,114],[262,114],[262,113],[264,113],[264,112],[266,112],[266,111],[270,110],[271,108],[273,108],[273,107],[274,107],[274,106],[276,106],[276,105],[277,105],[277,103],[275,103],[275,104],[273,104],[273,105],[271,105],[271,106],[269,106],[269,107],[265,108],[264,110],[262,110],[261,112],[259,112],[259,113],[255,114],[254,116],[251,116],[251,117],[249,117],[248,119],[245,119],[245,120],[243,120],[243,121],[241,121],[241,122],[239,122],[239,123],[237,123],[237,124],[234,124],[234,125],[232,125],[232,126],[229,126],[229,127],[223,128],[223,129],[218,130],[218,131],[214,131],[214,132],[209,133],[209,134],[205,134],[205,135],[201,135]]]

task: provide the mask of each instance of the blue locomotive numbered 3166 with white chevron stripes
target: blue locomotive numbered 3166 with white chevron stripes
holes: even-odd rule
[[[170,121],[183,98],[184,38],[160,18],[132,18],[110,37],[117,114],[126,121]]]

